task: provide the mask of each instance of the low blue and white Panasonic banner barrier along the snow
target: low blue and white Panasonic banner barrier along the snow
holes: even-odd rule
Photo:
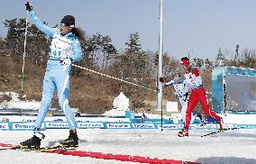
[[[0,122],[0,130],[3,131],[26,131],[32,130],[34,123],[27,122]],[[217,123],[207,123],[201,126],[200,123],[191,123],[189,126],[193,130],[218,129]],[[183,124],[178,123],[107,123],[107,122],[78,122],[78,129],[163,129],[180,130]],[[256,129],[256,124],[224,124],[224,128],[238,129]],[[44,122],[41,124],[41,130],[46,129],[69,129],[67,122]]]

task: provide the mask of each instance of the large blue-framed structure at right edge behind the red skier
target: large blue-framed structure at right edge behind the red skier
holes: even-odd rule
[[[256,69],[214,68],[212,93],[213,109],[217,113],[255,113],[256,108],[253,105],[256,100],[253,97],[256,97]]]

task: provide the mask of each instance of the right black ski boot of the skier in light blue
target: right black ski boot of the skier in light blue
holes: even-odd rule
[[[77,148],[78,147],[77,131],[76,130],[69,131],[68,139],[66,139],[64,141],[60,141],[59,143],[60,143],[60,147],[65,147],[65,148],[74,147],[74,148]]]

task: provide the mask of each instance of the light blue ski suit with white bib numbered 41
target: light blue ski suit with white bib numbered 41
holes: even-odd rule
[[[30,15],[36,27],[51,39],[50,55],[43,78],[41,107],[33,133],[39,132],[41,123],[50,109],[50,102],[56,89],[58,90],[59,106],[66,115],[69,129],[76,129],[75,116],[69,106],[71,66],[61,64],[60,60],[70,58],[72,61],[79,61],[82,59],[82,49],[78,37],[72,32],[62,35],[58,28],[50,28],[41,22],[33,10],[30,12]]]

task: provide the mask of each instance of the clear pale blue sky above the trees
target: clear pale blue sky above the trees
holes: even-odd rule
[[[5,19],[25,18],[25,0],[6,0],[0,6],[0,36]],[[159,47],[159,0],[31,0],[42,21],[53,26],[66,14],[91,36],[111,36],[117,50],[125,48],[129,34],[138,32],[142,49]],[[163,0],[163,49],[180,58],[215,59],[219,48],[256,50],[255,0]]]

